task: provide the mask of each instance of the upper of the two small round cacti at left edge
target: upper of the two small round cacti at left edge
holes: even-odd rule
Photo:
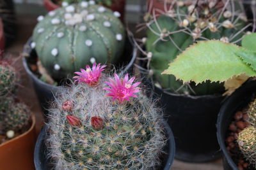
[[[7,62],[0,62],[0,96],[13,92],[18,81],[15,68]]]

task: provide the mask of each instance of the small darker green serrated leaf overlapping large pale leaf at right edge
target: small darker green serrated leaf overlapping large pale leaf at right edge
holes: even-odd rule
[[[249,51],[249,50],[244,50],[241,52],[237,52],[236,55],[241,57],[243,62],[248,64],[254,71],[256,71],[256,53]]]

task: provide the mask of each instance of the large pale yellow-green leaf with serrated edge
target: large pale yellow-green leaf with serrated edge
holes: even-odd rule
[[[256,72],[245,64],[237,55],[244,51],[237,45],[221,41],[200,41],[182,52],[170,63],[162,74],[174,74],[184,82],[226,81],[242,73],[255,76]]]

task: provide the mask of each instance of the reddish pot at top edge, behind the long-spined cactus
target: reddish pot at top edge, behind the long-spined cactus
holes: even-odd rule
[[[164,1],[166,0],[147,0],[148,12],[153,15],[153,11],[155,10],[156,15],[161,15],[164,11],[168,11],[170,3],[164,3]]]

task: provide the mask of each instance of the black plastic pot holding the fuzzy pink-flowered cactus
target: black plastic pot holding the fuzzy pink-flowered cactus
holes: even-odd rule
[[[164,129],[166,131],[166,138],[168,139],[167,145],[164,148],[164,152],[167,153],[163,157],[163,166],[159,169],[170,170],[175,155],[175,141],[173,138],[172,130],[167,123],[164,123]],[[34,152],[34,164],[36,170],[50,170],[52,169],[49,159],[46,157],[47,148],[45,146],[46,127],[43,127],[37,140]]]

